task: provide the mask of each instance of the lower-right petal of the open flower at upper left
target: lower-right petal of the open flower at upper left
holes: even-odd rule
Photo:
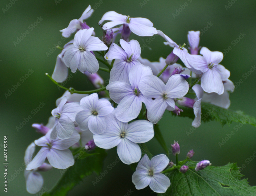
[[[86,71],[89,73],[96,73],[99,70],[99,62],[90,51],[86,50],[81,52],[78,69],[82,73]]]

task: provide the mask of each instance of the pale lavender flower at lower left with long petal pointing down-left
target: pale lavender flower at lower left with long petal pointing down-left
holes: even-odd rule
[[[80,135],[75,131],[68,139],[50,139],[51,130],[35,140],[37,146],[42,146],[34,159],[27,165],[26,170],[32,170],[42,166],[45,159],[49,161],[52,167],[58,169],[66,169],[74,165],[74,158],[71,151],[68,149],[73,144],[77,143]]]

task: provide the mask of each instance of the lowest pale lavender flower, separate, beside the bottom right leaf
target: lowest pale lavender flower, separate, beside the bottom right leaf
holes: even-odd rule
[[[157,155],[149,160],[145,154],[138,163],[136,171],[132,175],[135,188],[140,190],[149,187],[156,193],[165,193],[170,186],[170,180],[162,172],[169,164],[166,155]]]

